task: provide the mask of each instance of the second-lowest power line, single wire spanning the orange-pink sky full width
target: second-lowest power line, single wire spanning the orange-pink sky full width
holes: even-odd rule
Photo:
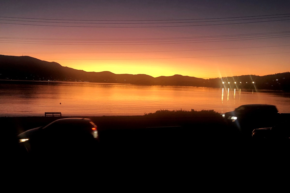
[[[260,47],[237,47],[237,48],[219,48],[219,49],[191,49],[191,50],[170,50],[170,51],[148,51],[148,52],[1,52],[3,54],[124,54],[124,53],[152,53],[152,52],[188,52],[188,51],[206,51],[223,49],[249,49],[266,47],[283,47],[290,45],[260,46]]]

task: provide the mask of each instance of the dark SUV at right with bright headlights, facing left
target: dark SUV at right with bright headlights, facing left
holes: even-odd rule
[[[271,104],[244,104],[222,114],[226,122],[251,137],[256,128],[272,127],[279,121],[279,111]]]

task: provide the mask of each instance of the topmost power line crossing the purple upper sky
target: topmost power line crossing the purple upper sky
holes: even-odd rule
[[[0,16],[0,18],[39,19],[39,20],[54,20],[54,21],[182,21],[182,20],[206,20],[206,19],[233,19],[233,18],[248,18],[248,17],[278,16],[278,15],[290,15],[290,13],[273,14],[273,15],[242,16],[242,17],[222,17],[222,18],[202,18],[202,19],[167,19],[167,20],[77,20],[77,19],[43,19],[43,18],[23,18],[23,17],[2,17],[2,16]]]

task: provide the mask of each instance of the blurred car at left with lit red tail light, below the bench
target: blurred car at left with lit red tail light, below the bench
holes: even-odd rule
[[[32,154],[92,151],[99,138],[97,125],[87,118],[58,119],[20,133],[22,149]]]

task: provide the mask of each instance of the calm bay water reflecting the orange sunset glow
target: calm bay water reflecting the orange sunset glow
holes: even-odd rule
[[[60,104],[61,103],[61,104]],[[290,113],[290,95],[227,88],[140,86],[85,82],[0,82],[0,116],[144,115],[160,109],[224,113],[242,104],[274,104]]]

